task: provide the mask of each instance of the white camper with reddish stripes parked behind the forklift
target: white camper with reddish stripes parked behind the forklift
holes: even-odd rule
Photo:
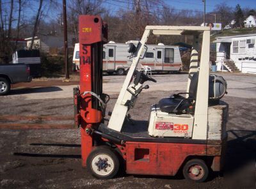
[[[126,43],[109,42],[103,47],[103,71],[108,73],[116,72],[118,75],[125,75],[132,63],[132,54],[127,52],[129,43],[138,44],[138,41]],[[179,47],[164,45],[147,45],[140,59],[143,70],[145,66],[154,72],[179,72],[182,70]],[[76,43],[73,55],[73,69],[79,70],[79,43]]]

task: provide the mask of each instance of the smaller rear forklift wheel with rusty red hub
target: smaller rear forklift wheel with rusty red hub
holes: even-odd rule
[[[194,170],[192,170],[194,169]],[[193,159],[189,160],[183,167],[184,178],[195,181],[196,183],[202,183],[207,179],[209,175],[209,169],[204,160]]]

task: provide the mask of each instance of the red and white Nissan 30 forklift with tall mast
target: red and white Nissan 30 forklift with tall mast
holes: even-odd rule
[[[136,70],[150,34],[193,36],[188,86],[186,93],[172,94],[148,107],[148,121],[134,121],[128,112],[141,91],[148,89],[144,83],[156,82]],[[196,182],[205,181],[211,170],[220,171],[228,118],[228,104],[220,99],[227,93],[227,82],[209,75],[210,27],[145,27],[140,42],[129,44],[132,64],[108,113],[110,119],[106,118],[110,98],[102,92],[102,51],[107,42],[108,25],[99,15],[79,16],[80,86],[74,88],[74,116],[81,130],[83,167],[98,179],[113,178],[122,168],[127,174],[182,172]]]

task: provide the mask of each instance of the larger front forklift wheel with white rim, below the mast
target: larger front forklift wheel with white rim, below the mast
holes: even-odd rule
[[[99,156],[99,158],[97,156]],[[110,159],[107,158],[106,160],[106,156]],[[116,176],[120,167],[120,161],[118,155],[111,149],[111,147],[102,146],[97,147],[90,153],[86,160],[86,167],[88,172],[90,172],[95,178],[111,179]]]

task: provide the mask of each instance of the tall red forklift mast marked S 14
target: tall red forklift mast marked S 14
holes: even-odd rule
[[[99,15],[79,16],[80,89],[74,89],[75,123],[81,126],[81,155],[85,166],[93,146],[90,131],[97,129],[104,117],[102,94],[102,52],[108,42],[108,26]],[[85,150],[86,149],[86,150]]]

